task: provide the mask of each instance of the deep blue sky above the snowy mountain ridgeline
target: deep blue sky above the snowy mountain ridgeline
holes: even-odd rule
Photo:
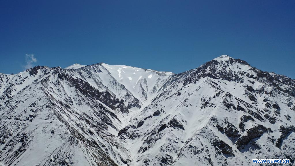
[[[294,0],[1,0],[0,22],[0,73],[23,71],[25,54],[174,73],[229,55],[295,78]]]

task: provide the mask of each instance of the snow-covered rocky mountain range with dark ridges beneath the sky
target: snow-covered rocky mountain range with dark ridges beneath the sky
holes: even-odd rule
[[[295,160],[295,80],[222,55],[180,74],[125,65],[0,74],[0,165]]]

